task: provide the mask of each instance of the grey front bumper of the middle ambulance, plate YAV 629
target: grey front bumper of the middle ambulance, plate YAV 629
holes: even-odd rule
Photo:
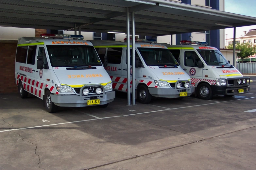
[[[190,96],[194,92],[193,87],[189,88],[148,88],[149,93],[154,97],[165,97],[165,98],[178,98],[178,97],[186,97],[186,96],[179,96],[180,92],[187,92]]]

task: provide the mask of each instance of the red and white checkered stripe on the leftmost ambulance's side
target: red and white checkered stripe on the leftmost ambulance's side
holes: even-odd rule
[[[16,78],[17,86],[19,84],[19,79],[21,79],[23,88],[26,91],[40,98],[43,98],[44,87],[47,87],[52,93],[59,94],[59,92],[57,92],[57,89],[54,86],[33,80],[31,78],[20,76],[20,75],[17,75],[17,78]]]

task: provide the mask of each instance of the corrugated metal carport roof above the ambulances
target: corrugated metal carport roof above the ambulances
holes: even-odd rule
[[[171,35],[255,25],[256,18],[168,0],[0,0],[0,25],[81,31],[126,31],[135,12],[136,35]]]

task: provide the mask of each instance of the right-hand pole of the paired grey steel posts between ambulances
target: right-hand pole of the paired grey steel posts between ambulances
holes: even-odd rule
[[[132,38],[131,38],[131,56],[132,56],[132,104],[135,105],[135,24],[134,24],[134,12],[132,12]],[[130,87],[130,86],[129,86]]]

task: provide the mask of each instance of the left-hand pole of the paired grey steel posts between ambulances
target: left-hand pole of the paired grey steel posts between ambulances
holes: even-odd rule
[[[127,8],[127,25],[126,25],[126,42],[127,42],[127,105],[131,105],[131,89],[130,89],[130,12],[129,8]]]

